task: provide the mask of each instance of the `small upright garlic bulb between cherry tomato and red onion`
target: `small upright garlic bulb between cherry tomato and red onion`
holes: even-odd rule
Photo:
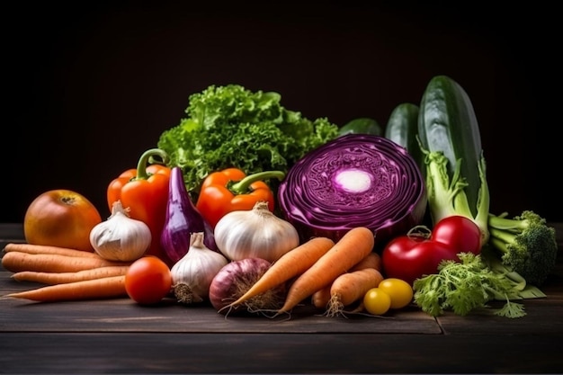
[[[174,296],[182,303],[209,298],[211,281],[228,259],[203,244],[204,232],[192,233],[188,252],[172,266]]]

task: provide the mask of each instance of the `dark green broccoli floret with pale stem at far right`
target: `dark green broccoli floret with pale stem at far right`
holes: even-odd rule
[[[541,286],[556,264],[558,246],[555,229],[531,210],[513,219],[488,216],[489,244],[502,263],[520,273],[530,284]]]

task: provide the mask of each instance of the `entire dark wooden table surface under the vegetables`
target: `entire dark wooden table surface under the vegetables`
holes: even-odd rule
[[[558,265],[541,287],[547,298],[523,300],[526,317],[434,318],[411,306],[348,318],[301,307],[272,319],[174,300],[0,298],[0,373],[561,373],[563,223],[551,225]],[[21,225],[0,225],[2,248],[22,238]],[[10,274],[0,270],[0,296],[37,286]]]

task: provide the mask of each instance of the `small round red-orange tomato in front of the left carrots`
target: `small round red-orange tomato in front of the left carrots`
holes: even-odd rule
[[[131,263],[125,274],[125,290],[130,299],[149,305],[164,299],[172,288],[168,265],[154,255],[146,255]]]

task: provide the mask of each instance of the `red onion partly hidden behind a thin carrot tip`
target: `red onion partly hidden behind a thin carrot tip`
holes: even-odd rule
[[[269,261],[255,257],[227,263],[210,284],[209,299],[213,308],[225,315],[240,311],[251,313],[277,311],[285,300],[285,284],[248,299],[237,307],[226,308],[228,304],[245,294],[271,265]]]

